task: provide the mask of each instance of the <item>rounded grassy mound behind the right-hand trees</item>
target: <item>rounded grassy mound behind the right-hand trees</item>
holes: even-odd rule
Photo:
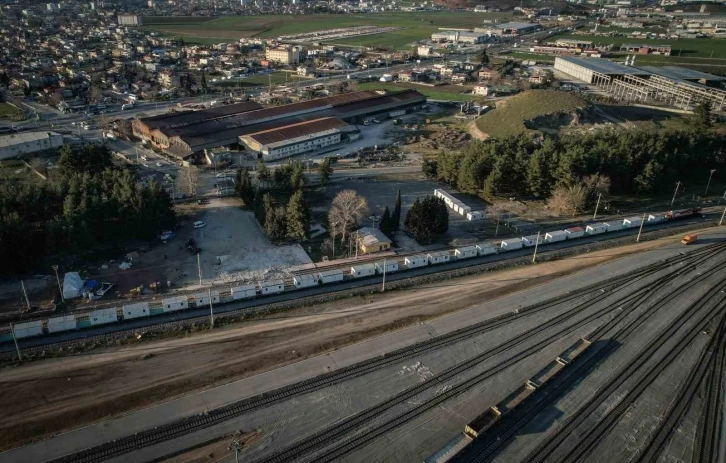
[[[524,121],[558,112],[572,112],[587,103],[573,93],[556,90],[530,90],[498,103],[497,109],[476,120],[476,126],[490,137],[528,132]]]

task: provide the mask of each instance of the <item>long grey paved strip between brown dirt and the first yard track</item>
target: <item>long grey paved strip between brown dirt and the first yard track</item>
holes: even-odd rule
[[[708,242],[713,242],[713,240],[724,240],[726,239],[726,232],[712,232],[702,236],[702,238],[705,237],[709,239],[702,239],[700,243],[694,244],[693,248],[698,248]],[[333,351],[329,354],[313,357],[257,376],[192,394],[165,404],[131,413],[118,419],[81,428],[34,445],[11,450],[0,454],[0,460],[9,462],[41,461],[60,457],[89,446],[127,436],[143,429],[159,426],[174,419],[203,413],[245,397],[311,378],[325,371],[336,370],[400,347],[430,339],[434,336],[449,333],[461,327],[469,326],[497,315],[556,297],[565,292],[592,285],[612,276],[627,273],[662,259],[676,256],[682,251],[682,245],[673,244],[618,259],[561,278],[549,284],[521,291],[492,302],[482,303],[471,309],[437,318],[420,325],[411,326],[392,334]],[[333,399],[331,397],[325,400]],[[184,438],[177,439],[176,441],[169,441],[149,448],[139,449],[134,453],[133,458],[136,461],[148,461],[174,450],[188,448],[214,436],[228,433],[230,426],[237,426],[234,429],[250,429],[249,426],[252,426],[252,424],[246,422],[244,418],[241,418],[241,420],[242,422],[237,420],[236,423],[227,423],[224,432],[221,431],[224,425],[219,425],[216,428],[199,431]],[[128,457],[129,455],[126,456]],[[124,458],[121,457],[112,461],[124,461]],[[225,461],[233,460],[230,457]]]

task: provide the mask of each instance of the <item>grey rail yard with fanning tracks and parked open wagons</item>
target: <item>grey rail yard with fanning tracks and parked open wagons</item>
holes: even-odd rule
[[[726,236],[680,238],[3,456],[160,461],[238,441],[259,462],[717,461]]]

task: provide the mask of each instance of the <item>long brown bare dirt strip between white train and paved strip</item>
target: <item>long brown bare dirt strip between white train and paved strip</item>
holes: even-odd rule
[[[7,368],[0,447],[100,421],[544,284],[680,237],[593,252],[448,284],[344,299],[211,332]],[[467,291],[461,291],[466,286]]]

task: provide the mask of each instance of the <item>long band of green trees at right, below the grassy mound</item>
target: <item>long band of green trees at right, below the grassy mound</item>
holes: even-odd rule
[[[546,198],[591,176],[609,179],[613,191],[637,195],[670,189],[679,180],[705,180],[710,169],[726,167],[725,147],[726,135],[696,125],[686,130],[603,130],[543,141],[521,134],[441,152],[424,161],[422,169],[430,178],[487,199],[513,194]]]

